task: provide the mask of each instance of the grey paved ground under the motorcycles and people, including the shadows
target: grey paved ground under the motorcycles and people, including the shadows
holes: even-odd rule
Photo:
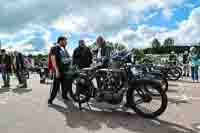
[[[27,89],[15,88],[14,78],[11,82],[11,89],[0,88],[0,133],[200,132],[200,83],[189,79],[169,83],[169,105],[157,120],[121,111],[79,111],[60,96],[49,107],[50,85],[40,84],[37,75],[31,76]]]

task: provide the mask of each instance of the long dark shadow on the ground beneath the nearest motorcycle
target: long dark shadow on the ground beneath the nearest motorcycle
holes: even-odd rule
[[[66,119],[66,125],[70,128],[83,127],[89,131],[98,131],[103,127],[110,129],[122,128],[131,132],[141,133],[197,133],[176,123],[163,120],[143,119],[136,114],[121,111],[93,111],[79,109],[68,102],[66,108],[60,105],[51,105]]]

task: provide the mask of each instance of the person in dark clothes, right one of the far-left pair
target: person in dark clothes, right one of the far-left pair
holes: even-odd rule
[[[18,87],[27,88],[26,66],[22,53],[14,51],[13,66],[19,81]]]

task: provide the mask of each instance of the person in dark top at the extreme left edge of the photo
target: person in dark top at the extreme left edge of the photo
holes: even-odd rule
[[[1,50],[0,57],[1,72],[4,85],[2,87],[10,87],[11,58],[6,54],[6,50]]]

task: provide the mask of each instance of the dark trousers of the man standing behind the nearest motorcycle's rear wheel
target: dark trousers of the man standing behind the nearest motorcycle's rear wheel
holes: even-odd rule
[[[62,97],[64,99],[67,98],[68,90],[72,88],[72,81],[69,79],[64,79],[64,78],[60,78],[60,79],[54,78],[53,88],[50,94],[49,101],[53,101],[56,98],[57,93],[60,89],[60,85],[62,89]]]

